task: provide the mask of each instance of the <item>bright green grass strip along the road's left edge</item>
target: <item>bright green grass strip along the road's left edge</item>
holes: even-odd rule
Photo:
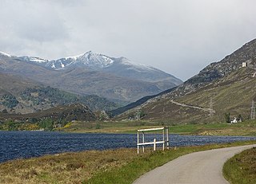
[[[215,148],[222,147],[234,147],[244,144],[255,143],[250,142],[239,142],[239,143],[225,143],[225,144],[211,144],[200,147],[178,147],[170,149],[169,151],[157,151],[146,155],[146,157],[137,157],[125,166],[116,168],[114,170],[107,170],[106,172],[99,172],[94,177],[90,178],[89,181],[84,183],[132,183],[136,178],[145,174],[146,172],[154,169],[157,166],[162,166],[166,162],[178,158],[179,156],[186,155],[196,151],[205,151]]]

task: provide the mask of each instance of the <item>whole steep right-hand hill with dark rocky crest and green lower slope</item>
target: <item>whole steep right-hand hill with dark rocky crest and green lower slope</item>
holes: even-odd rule
[[[246,62],[247,67],[242,68]],[[255,96],[256,39],[246,43],[222,61],[202,69],[170,92],[154,96],[144,104],[120,115],[126,119],[142,111],[144,119],[169,123],[208,123],[242,115],[249,118]]]

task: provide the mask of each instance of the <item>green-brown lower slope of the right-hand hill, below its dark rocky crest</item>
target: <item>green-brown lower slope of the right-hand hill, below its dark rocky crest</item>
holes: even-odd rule
[[[240,68],[185,96],[158,96],[118,119],[126,119],[138,109],[145,113],[143,119],[160,119],[169,123],[224,122],[228,113],[230,119],[238,115],[249,119],[252,100],[256,100],[256,78],[253,75],[254,69]]]

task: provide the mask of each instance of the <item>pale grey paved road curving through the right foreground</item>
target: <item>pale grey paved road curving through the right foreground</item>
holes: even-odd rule
[[[184,155],[142,175],[142,177],[138,178],[134,183],[229,183],[222,176],[222,166],[224,162],[235,154],[251,147],[256,147],[256,144],[242,147],[227,147],[210,151],[200,151],[189,155]]]

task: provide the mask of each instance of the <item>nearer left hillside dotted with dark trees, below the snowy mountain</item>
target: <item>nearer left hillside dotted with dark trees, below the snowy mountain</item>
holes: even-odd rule
[[[0,112],[26,114],[62,104],[84,104],[92,110],[111,110],[118,105],[105,98],[79,96],[58,88],[46,87],[34,80],[0,72]]]

